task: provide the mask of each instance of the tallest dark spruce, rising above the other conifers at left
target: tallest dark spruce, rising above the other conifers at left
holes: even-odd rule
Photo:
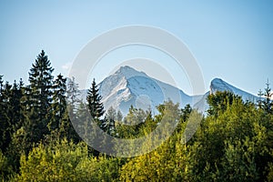
[[[29,72],[29,122],[31,127],[28,131],[31,131],[31,141],[39,142],[43,137],[48,134],[47,124],[49,122],[48,112],[52,103],[52,86],[53,78],[51,63],[45,51],[37,56],[35,63]]]

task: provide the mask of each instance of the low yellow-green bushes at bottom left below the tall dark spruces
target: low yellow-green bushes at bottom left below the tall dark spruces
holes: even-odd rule
[[[112,181],[118,174],[117,159],[88,157],[85,144],[66,140],[54,147],[40,144],[20,163],[18,181]]]

